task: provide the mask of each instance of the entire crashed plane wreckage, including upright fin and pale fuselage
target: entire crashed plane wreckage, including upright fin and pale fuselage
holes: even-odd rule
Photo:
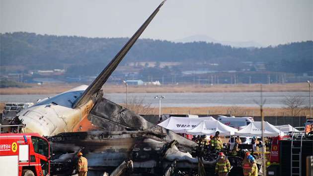
[[[101,87],[163,3],[89,86],[40,100],[15,117],[23,131],[48,136],[52,175],[75,174],[79,151],[88,159],[88,176],[214,174],[216,153],[103,98]]]

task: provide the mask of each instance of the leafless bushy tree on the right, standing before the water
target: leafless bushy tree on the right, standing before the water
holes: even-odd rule
[[[305,108],[304,99],[299,96],[288,96],[282,100],[282,103],[286,105],[286,109],[290,110],[291,116],[298,116]]]

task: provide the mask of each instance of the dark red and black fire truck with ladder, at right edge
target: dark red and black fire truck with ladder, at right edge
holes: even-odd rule
[[[305,130],[273,138],[268,176],[306,176],[306,158],[313,155],[312,125],[308,120],[301,127]]]

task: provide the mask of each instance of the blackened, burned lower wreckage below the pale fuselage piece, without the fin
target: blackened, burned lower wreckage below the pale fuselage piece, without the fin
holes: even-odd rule
[[[98,98],[87,118],[88,121],[81,124],[81,129],[92,126],[95,131],[61,133],[49,140],[54,150],[62,147],[82,150],[88,159],[90,172],[111,173],[128,160],[133,161],[133,173],[141,174],[163,175],[165,168],[173,162],[175,170],[189,171],[198,167],[198,159],[191,155],[195,152],[195,142],[154,125],[109,100]],[[73,156],[73,152],[64,150],[63,162],[60,157],[52,160],[53,166],[59,166],[53,174],[73,172],[71,168],[75,163],[68,165],[70,156]],[[211,169],[215,163],[216,158],[204,162]]]

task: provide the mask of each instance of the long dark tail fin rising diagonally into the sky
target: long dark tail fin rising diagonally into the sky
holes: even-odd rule
[[[136,33],[129,39],[129,41],[117,53],[117,55],[111,60],[111,62],[102,70],[102,72],[96,77],[96,79],[87,87],[83,94],[74,103],[73,108],[77,108],[82,104],[86,103],[87,101],[89,101],[91,96],[101,89],[102,85],[108,80],[108,78],[115,70],[117,65],[122,61],[124,56],[128,53],[128,51],[132,48],[134,43],[144,32],[144,30],[152,21],[152,19],[156,16],[157,12],[159,11],[160,7],[163,5],[164,2],[165,0],[158,5],[156,10],[149,16],[145,23],[136,31]]]

